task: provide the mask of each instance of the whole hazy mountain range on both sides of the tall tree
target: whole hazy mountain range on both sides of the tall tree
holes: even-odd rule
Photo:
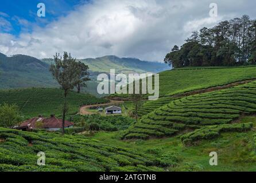
[[[119,58],[108,55],[100,58],[78,59],[90,68],[92,81],[88,83],[89,93],[95,93],[96,75],[109,73],[115,69],[116,73],[158,73],[168,70],[164,63],[141,61],[137,58]],[[7,57],[0,53],[0,89],[20,87],[58,87],[49,72],[52,58],[37,59],[28,55],[13,55]]]

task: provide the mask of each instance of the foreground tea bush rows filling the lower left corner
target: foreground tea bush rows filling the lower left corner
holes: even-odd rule
[[[162,171],[176,162],[173,154],[157,157],[82,135],[0,128],[0,139],[0,171]],[[45,166],[37,165],[38,152]]]

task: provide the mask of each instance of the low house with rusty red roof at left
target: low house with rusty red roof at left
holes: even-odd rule
[[[65,121],[65,128],[73,128],[74,124],[69,121]],[[62,128],[62,120],[55,117],[54,114],[49,118],[43,118],[38,116],[37,118],[31,118],[22,122],[19,126],[15,126],[14,129],[18,130],[33,130],[33,129],[47,129],[49,131],[57,131]]]

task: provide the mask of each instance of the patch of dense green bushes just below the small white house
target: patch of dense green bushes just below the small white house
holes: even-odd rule
[[[87,130],[104,130],[107,132],[125,130],[134,122],[133,118],[126,116],[100,116],[100,114],[75,115],[70,116],[69,120],[75,122],[76,126],[83,126]]]

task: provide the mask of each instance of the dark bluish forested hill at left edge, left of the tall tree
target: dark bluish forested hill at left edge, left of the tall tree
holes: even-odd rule
[[[49,65],[28,55],[0,53],[0,88],[56,86]]]

